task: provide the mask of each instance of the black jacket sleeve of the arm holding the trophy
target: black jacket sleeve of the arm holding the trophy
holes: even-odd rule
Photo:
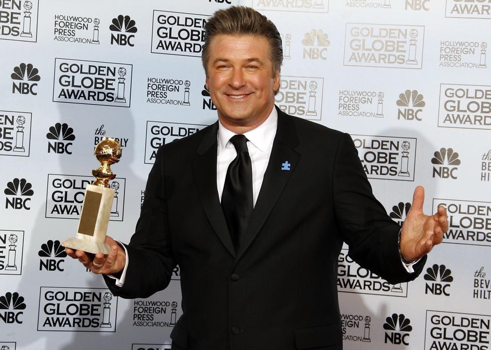
[[[159,148],[156,161],[148,175],[145,200],[136,231],[126,248],[129,263],[122,287],[104,276],[115,296],[148,297],[163,290],[170,282],[176,266],[170,242],[167,204],[164,188],[164,148]]]

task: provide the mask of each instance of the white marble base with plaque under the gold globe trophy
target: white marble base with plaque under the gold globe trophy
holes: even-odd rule
[[[106,241],[114,189],[87,185],[76,237],[61,243],[64,247],[88,253],[109,254]]]

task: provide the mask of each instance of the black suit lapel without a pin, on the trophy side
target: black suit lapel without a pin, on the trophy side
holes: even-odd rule
[[[201,205],[218,238],[235,257],[235,249],[228,232],[227,222],[221,210],[217,191],[217,133],[218,122],[210,126],[198,149],[194,160],[194,179],[198,188]]]

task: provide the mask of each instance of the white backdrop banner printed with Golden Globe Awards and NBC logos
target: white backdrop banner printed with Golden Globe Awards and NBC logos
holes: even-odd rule
[[[109,235],[128,242],[159,146],[217,119],[203,27],[237,0],[0,0],[0,349],[170,349],[179,268],[112,296],[67,258],[104,136],[123,148]],[[411,283],[339,256],[345,349],[489,350],[491,2],[247,0],[278,27],[276,104],[352,135],[402,224],[416,185],[450,229]],[[210,318],[213,315],[210,315]]]

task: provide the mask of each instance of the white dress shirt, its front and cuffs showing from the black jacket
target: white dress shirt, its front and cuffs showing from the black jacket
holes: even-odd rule
[[[252,163],[252,195],[254,199],[254,206],[256,205],[257,196],[259,195],[259,190],[263,184],[264,173],[268,167],[268,162],[270,161],[271,150],[273,149],[273,140],[276,135],[276,128],[278,125],[278,113],[276,108],[273,108],[270,116],[257,128],[245,133],[247,138],[247,149],[249,151],[250,160]],[[218,121],[218,148],[217,148],[217,190],[218,198],[221,202],[221,194],[223,192],[223,186],[225,184],[225,176],[227,174],[228,165],[235,159],[237,152],[235,151],[234,145],[230,143],[230,138],[236,135],[230,130],[226,129]],[[118,242],[126,253],[126,264],[121,273],[120,278],[109,275],[109,277],[115,279],[116,286],[122,287],[125,277],[126,269],[129,263],[129,256],[126,247],[121,242]],[[417,260],[419,261],[419,259]],[[416,261],[416,262],[417,262]],[[402,260],[406,271],[409,273],[414,272],[412,265],[406,264]]]

